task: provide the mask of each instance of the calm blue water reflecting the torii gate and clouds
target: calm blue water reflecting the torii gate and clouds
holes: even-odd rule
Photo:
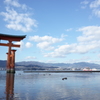
[[[0,100],[100,100],[100,73],[0,71]]]

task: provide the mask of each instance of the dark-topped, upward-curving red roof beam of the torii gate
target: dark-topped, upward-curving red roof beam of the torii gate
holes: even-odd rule
[[[0,40],[8,40],[8,41],[21,41],[26,37],[26,35],[8,35],[0,33]]]

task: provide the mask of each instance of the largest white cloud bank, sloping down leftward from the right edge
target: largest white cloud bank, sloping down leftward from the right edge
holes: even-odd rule
[[[78,43],[61,45],[51,53],[47,53],[45,57],[66,57],[70,53],[87,53],[95,48],[100,48],[100,27],[87,26],[79,28],[78,31],[83,33],[77,37]]]

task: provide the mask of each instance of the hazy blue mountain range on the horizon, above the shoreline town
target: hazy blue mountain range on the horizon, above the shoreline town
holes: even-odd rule
[[[87,63],[87,62],[79,62],[79,63],[43,63],[43,62],[36,62],[36,61],[22,61],[16,62],[16,66],[23,66],[23,67],[62,67],[62,68],[100,68],[99,64],[94,63]],[[6,60],[0,60],[0,67],[6,67]]]

